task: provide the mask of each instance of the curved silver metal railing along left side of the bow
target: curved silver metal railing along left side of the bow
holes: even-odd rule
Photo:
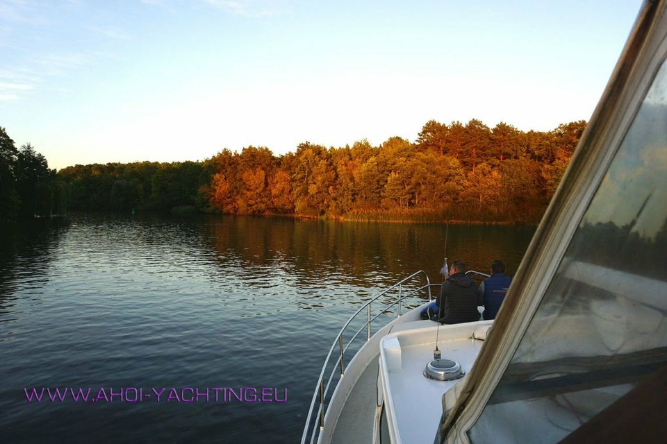
[[[422,284],[420,287],[416,289],[404,289],[404,284],[409,283],[410,281],[414,281],[415,278],[425,278],[426,284]],[[438,286],[440,284],[437,284]],[[306,418],[306,425],[304,426],[304,433],[302,434],[301,437],[301,443],[305,444],[306,442],[310,442],[311,444],[315,442],[315,439],[319,436],[320,432],[322,432],[322,429],[324,429],[324,414],[326,413],[326,406],[327,406],[327,401],[329,400],[329,388],[331,386],[331,382],[334,380],[334,375],[336,374],[337,370],[340,370],[340,378],[342,378],[345,375],[345,361],[343,357],[345,356],[345,352],[348,350],[349,346],[352,344],[352,342],[359,336],[363,330],[366,330],[366,341],[370,340],[371,336],[371,323],[372,321],[375,321],[379,316],[382,314],[386,314],[389,309],[394,307],[394,305],[398,304],[398,310],[397,310],[397,318],[400,318],[401,316],[401,309],[402,309],[402,304],[403,300],[405,298],[409,298],[410,296],[415,295],[416,293],[420,291],[426,290],[429,295],[429,300],[432,300],[431,298],[431,281],[429,280],[429,276],[425,271],[418,271],[417,273],[413,273],[409,275],[407,278],[404,280],[401,280],[400,282],[397,282],[396,284],[393,284],[391,287],[388,289],[382,291],[379,293],[377,296],[374,298],[371,298],[368,300],[368,302],[365,302],[364,305],[362,305],[356,313],[354,313],[350,318],[347,320],[345,325],[343,325],[343,328],[340,329],[340,332],[338,332],[338,335],[336,336],[336,339],[334,339],[334,343],[331,345],[331,348],[329,349],[329,353],[327,354],[327,358],[324,359],[324,365],[322,365],[322,371],[320,371],[320,377],[318,379],[318,384],[315,386],[315,393],[313,393],[313,400],[311,401],[311,407],[308,409],[308,417]],[[372,302],[377,301],[379,298],[382,296],[385,296],[387,293],[390,291],[398,291],[398,298],[397,300],[394,300],[391,302],[389,305],[382,305],[381,310],[378,314],[376,314],[374,317],[371,318],[371,304]],[[404,291],[408,291],[408,293],[404,293]],[[356,333],[352,336],[349,341],[347,341],[347,345],[343,347],[343,333],[347,329],[347,327],[354,321],[354,319],[362,312],[366,311],[366,322],[359,328],[359,330],[356,331]],[[386,325],[386,324],[385,324]],[[383,325],[384,327],[384,325]],[[329,365],[329,360],[331,359],[332,355],[334,355],[334,350],[336,350],[336,347],[338,347],[338,359],[334,362],[333,369],[331,370],[331,373],[329,374],[329,377],[327,379],[324,379],[324,374],[327,371],[327,366]],[[338,379],[340,381],[340,379]],[[325,385],[326,382],[326,385]],[[315,404],[318,403],[318,395],[319,395],[319,408],[317,413],[313,415],[313,410],[315,409]],[[312,425],[311,425],[312,423]],[[310,440],[308,440],[308,436],[310,436]]]

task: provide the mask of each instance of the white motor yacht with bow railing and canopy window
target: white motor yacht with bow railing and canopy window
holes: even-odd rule
[[[495,321],[420,320],[422,271],[382,291],[334,339],[302,443],[667,441],[666,59],[648,0]]]

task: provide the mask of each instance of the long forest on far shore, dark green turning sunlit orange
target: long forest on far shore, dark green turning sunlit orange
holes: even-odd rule
[[[345,219],[536,222],[585,121],[551,131],[430,120],[390,137],[294,152],[223,149],[203,162],[89,164],[58,171],[75,210],[297,214]]]

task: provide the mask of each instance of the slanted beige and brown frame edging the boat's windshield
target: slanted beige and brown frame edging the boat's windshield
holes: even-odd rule
[[[588,205],[666,58],[666,1],[646,1],[522,260],[468,384],[456,404],[447,406],[449,411],[443,415],[436,442],[470,443],[468,430],[481,416],[522,341]]]

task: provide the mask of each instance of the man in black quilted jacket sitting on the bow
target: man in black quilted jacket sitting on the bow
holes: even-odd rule
[[[477,283],[466,275],[468,267],[461,261],[452,264],[450,278],[438,293],[438,318],[443,324],[479,321]]]

